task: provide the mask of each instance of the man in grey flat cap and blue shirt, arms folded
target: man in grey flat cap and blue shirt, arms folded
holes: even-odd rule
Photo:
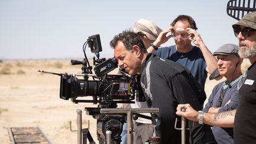
[[[234,110],[238,106],[239,91],[236,87],[242,78],[242,58],[238,55],[238,46],[224,44],[213,53],[213,56],[217,56],[217,68],[220,75],[226,78],[226,81],[220,82],[213,88],[208,103],[203,111],[200,111],[201,113]],[[233,128],[213,126],[212,131],[217,143],[233,143]]]

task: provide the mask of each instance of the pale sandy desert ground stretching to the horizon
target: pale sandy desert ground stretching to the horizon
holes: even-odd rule
[[[243,71],[248,67],[245,60]],[[76,110],[81,109],[83,128],[96,138],[96,120],[85,114],[84,107],[96,107],[91,103],[74,104],[59,98],[60,76],[37,72],[81,73],[81,65],[71,66],[70,60],[2,60],[0,62],[0,143],[11,143],[7,127],[36,127],[43,129],[55,144],[77,143]],[[113,72],[115,73],[115,72]],[[220,80],[223,81],[224,79]],[[209,97],[220,81],[206,82]],[[86,97],[91,98],[91,97]]]

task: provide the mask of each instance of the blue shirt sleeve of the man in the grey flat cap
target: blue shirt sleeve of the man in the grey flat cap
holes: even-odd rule
[[[219,109],[219,113],[228,110],[235,110],[238,107],[239,91],[234,87],[231,91],[231,103],[226,104],[224,107]]]

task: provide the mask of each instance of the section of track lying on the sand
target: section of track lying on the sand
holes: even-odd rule
[[[8,125],[11,144],[52,144],[41,127],[10,127]]]

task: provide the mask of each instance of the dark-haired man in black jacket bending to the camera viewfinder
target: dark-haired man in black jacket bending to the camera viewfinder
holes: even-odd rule
[[[206,95],[183,66],[148,54],[141,38],[132,31],[124,31],[110,41],[110,46],[114,48],[119,66],[129,75],[141,74],[143,94],[149,98],[152,107],[159,108],[155,130],[156,136],[161,136],[161,143],[181,143],[181,132],[174,129],[175,108],[178,104],[190,103],[200,110]],[[188,126],[191,143],[215,143],[210,127],[191,121]],[[187,143],[189,136],[187,133]]]

